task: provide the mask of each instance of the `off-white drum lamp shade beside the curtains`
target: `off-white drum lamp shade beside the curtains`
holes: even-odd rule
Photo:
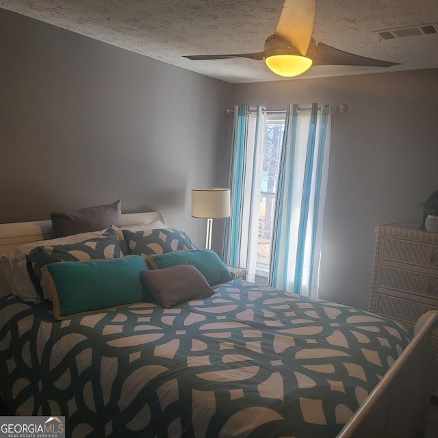
[[[194,218],[229,218],[231,216],[228,188],[192,189],[192,216]]]

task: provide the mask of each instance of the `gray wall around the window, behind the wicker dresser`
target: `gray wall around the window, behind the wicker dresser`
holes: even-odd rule
[[[438,189],[438,70],[245,84],[235,101],[346,103],[333,114],[320,298],[367,309],[378,224],[420,224]]]

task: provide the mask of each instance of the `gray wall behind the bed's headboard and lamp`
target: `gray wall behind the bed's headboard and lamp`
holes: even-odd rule
[[[231,85],[3,9],[0,60],[0,222],[120,198],[205,242]]]

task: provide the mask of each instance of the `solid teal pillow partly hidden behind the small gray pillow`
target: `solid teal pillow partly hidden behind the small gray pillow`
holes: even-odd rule
[[[220,257],[211,249],[198,249],[191,251],[175,251],[167,254],[150,255],[146,263],[151,269],[170,268],[191,263],[207,280],[210,286],[217,283],[224,283],[233,278]]]

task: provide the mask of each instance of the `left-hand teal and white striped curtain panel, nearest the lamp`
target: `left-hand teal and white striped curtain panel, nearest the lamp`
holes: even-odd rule
[[[263,142],[266,115],[263,107],[234,107],[233,138],[229,187],[231,218],[225,226],[223,260],[248,270],[248,280],[255,280],[257,233],[260,205]]]

